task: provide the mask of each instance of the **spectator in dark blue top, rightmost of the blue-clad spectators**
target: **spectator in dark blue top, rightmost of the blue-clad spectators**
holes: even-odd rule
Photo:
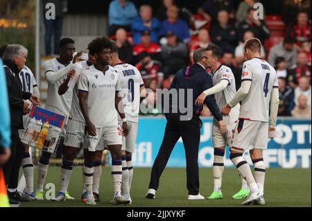
[[[168,19],[162,21],[159,36],[164,36],[169,30],[184,43],[189,42],[189,26],[185,21],[178,18],[179,9],[177,6],[170,6],[167,10]]]

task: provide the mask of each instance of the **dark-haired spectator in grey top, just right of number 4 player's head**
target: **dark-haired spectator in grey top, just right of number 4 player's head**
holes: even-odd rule
[[[297,62],[297,48],[295,48],[295,39],[286,37],[283,42],[273,46],[268,55],[268,62],[272,66],[275,64],[277,57],[284,57],[286,67],[290,69]]]

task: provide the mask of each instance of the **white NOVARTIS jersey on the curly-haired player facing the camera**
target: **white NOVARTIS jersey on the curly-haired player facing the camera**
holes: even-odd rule
[[[99,71],[94,65],[87,67],[80,73],[78,90],[88,93],[89,118],[95,127],[118,125],[115,93],[121,90],[119,71],[110,66],[105,72]]]

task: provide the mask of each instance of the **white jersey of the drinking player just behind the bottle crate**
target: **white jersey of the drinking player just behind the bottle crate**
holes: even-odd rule
[[[64,64],[58,62],[56,58],[51,60],[47,60],[44,63],[44,75],[47,71],[58,72],[61,69],[64,69]],[[52,112],[57,112],[61,114],[60,111],[65,114],[65,116],[69,116],[69,112],[71,110],[71,100],[73,98],[73,89],[68,89],[67,92],[63,95],[58,94],[58,88],[62,83],[67,79],[67,76],[64,76],[62,79],[55,82],[55,84],[51,84],[48,82],[48,94],[46,98],[46,109],[51,110]],[[56,108],[55,108],[56,107]]]

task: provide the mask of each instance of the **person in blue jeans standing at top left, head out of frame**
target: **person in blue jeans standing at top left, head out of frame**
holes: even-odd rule
[[[55,6],[55,19],[49,19],[46,17],[46,8],[47,3],[53,3]],[[60,38],[62,36],[62,28],[63,28],[63,9],[62,9],[62,0],[44,0],[43,1],[43,12],[44,12],[44,46],[46,51],[46,56],[51,55],[52,49],[52,36],[54,36],[53,41],[53,53],[55,55],[59,54],[58,51],[58,42],[60,42]],[[48,13],[49,14],[49,13]]]

